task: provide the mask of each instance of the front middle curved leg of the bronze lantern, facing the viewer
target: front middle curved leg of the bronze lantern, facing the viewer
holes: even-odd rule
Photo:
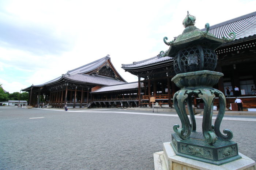
[[[201,88],[198,96],[204,101],[204,114],[203,114],[203,135],[204,139],[209,144],[214,144],[217,140],[216,134],[212,130],[211,119],[213,111],[213,100],[215,95],[211,92],[210,88]]]

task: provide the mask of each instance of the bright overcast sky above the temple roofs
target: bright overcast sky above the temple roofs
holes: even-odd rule
[[[121,64],[165,51],[187,11],[197,28],[255,11],[256,0],[0,0],[0,84],[12,93],[110,55]]]

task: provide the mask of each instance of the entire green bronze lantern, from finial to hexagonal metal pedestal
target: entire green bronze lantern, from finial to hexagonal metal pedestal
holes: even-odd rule
[[[225,41],[233,40],[236,34],[229,33],[229,36],[233,35],[230,36],[231,39],[218,39],[208,32],[208,23],[205,25],[205,31],[196,28],[195,19],[188,13],[183,20],[185,29],[182,34],[170,42],[164,37],[164,43],[170,48],[166,52],[161,51],[159,55],[174,58],[176,76],[172,81],[180,88],[173,95],[173,104],[181,120],[181,127],[179,124],[173,126],[175,133],[172,134],[171,145],[176,155],[221,165],[241,157],[238,155],[237,143],[231,141],[232,131],[224,129],[224,134],[221,133],[226,98],[222,91],[213,88],[223,76],[221,72],[214,71],[217,66],[214,50]],[[213,102],[216,97],[219,98],[219,111],[212,124]],[[193,98],[200,98],[204,103],[202,133],[196,131]]]

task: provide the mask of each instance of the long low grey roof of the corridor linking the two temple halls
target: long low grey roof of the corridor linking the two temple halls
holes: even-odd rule
[[[142,83],[141,87],[144,87],[143,83]],[[91,92],[91,93],[124,91],[124,90],[138,89],[138,88],[139,88],[138,82],[132,82],[132,83],[117,84],[117,85],[113,85],[113,86],[104,86],[104,87],[99,88],[98,90]]]

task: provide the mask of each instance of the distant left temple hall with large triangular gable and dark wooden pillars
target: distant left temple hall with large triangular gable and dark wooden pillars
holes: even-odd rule
[[[89,107],[91,91],[102,86],[127,83],[118,74],[109,55],[53,79],[49,82],[32,85],[22,91],[29,92],[29,105],[33,107],[52,106],[63,108]]]

